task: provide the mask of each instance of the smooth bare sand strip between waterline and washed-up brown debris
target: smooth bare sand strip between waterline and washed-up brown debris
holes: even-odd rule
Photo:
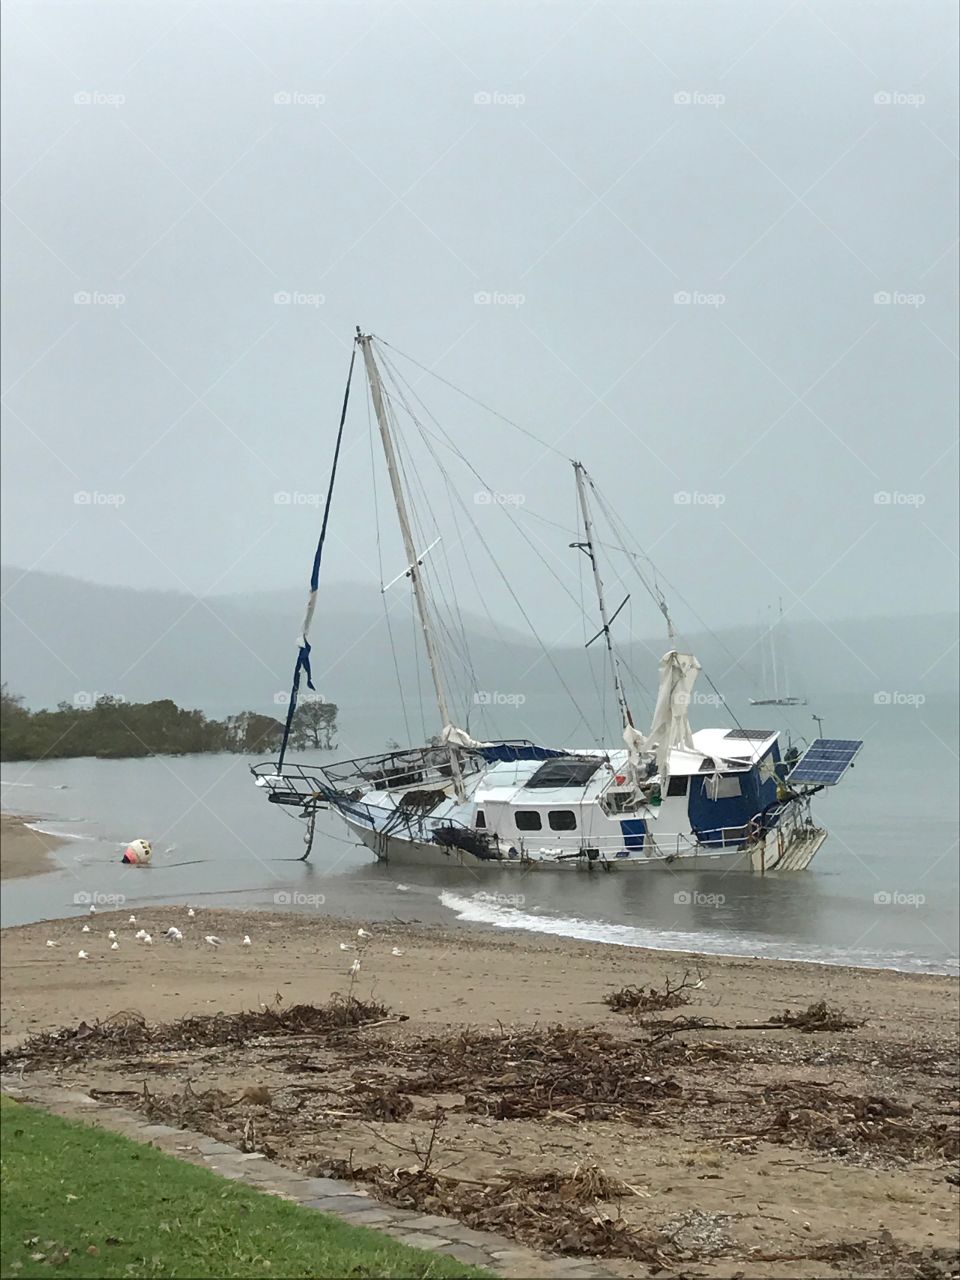
[[[172,1019],[214,1009],[255,1007],[280,992],[285,1001],[323,1001],[343,991],[361,920],[293,913],[134,908],[90,918],[41,922],[3,934],[3,1030],[18,1036],[64,1023],[137,1009],[145,1018]],[[83,924],[91,928],[82,933]],[[183,942],[164,942],[170,925]],[[111,951],[109,929],[120,936]],[[154,946],[133,938],[147,929]],[[553,936],[457,924],[451,929],[408,923],[369,923],[375,937],[364,959],[361,987],[420,1023],[588,1023],[608,1014],[603,995],[626,983],[662,979],[699,969],[704,987],[695,1011],[723,1020],[767,1018],[787,1006],[827,998],[873,1034],[909,1039],[956,1030],[955,978],[852,969],[795,961],[612,947]],[[243,934],[252,946],[243,947]],[[204,942],[215,934],[223,946]],[[46,947],[46,940],[59,942]],[[90,960],[78,961],[79,948]],[[393,956],[393,947],[403,951]]]

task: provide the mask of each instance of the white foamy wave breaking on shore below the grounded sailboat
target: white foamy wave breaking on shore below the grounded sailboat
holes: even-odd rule
[[[644,947],[650,951],[692,951],[716,956],[755,956],[763,960],[792,960],[804,964],[850,965],[855,969],[895,969],[899,973],[960,973],[955,957],[932,960],[897,952],[884,956],[869,951],[828,950],[819,946],[791,943],[782,940],[769,942],[760,938],[685,933],[668,929],[643,929],[631,924],[611,924],[607,920],[584,920],[575,915],[531,915],[509,906],[488,893],[465,897],[444,891],[439,895],[442,906],[454,911],[458,920],[472,924],[490,924],[498,929],[526,929],[581,942],[605,942],[617,947]],[[785,950],[790,947],[790,951]]]

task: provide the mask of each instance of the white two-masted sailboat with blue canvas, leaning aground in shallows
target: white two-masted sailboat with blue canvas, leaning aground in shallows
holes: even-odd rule
[[[308,631],[317,600],[319,571],[330,516],[353,365],[360,352],[396,506],[406,570],[433,678],[440,732],[425,746],[396,749],[334,764],[285,759],[300,682],[310,684]],[[810,812],[813,796],[840,781],[863,745],[818,739],[788,763],[777,730],[692,730],[689,709],[700,663],[676,644],[663,594],[652,594],[667,622],[669,648],[659,663],[650,728],[637,728],[613,639],[623,605],[609,612],[594,531],[593,502],[600,500],[588,471],[573,462],[582,536],[572,547],[590,566],[600,628],[621,719],[621,740],[582,750],[527,740],[475,739],[457,724],[444,684],[439,617],[411,518],[410,486],[398,463],[398,417],[406,398],[380,371],[385,353],[357,330],[343,397],[334,462],[314,557],[307,609],[276,760],[252,767],[270,803],[300,810],[310,824],[317,810],[339,814],[358,842],[392,865],[553,868],[585,870],[801,869],[826,831]],[[433,544],[431,544],[433,545]],[[389,584],[388,584],[389,585]],[[646,585],[646,584],[645,584]],[[623,602],[626,603],[626,602]],[[312,685],[311,685],[312,687]]]

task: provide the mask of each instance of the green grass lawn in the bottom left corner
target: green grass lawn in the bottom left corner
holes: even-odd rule
[[[4,1277],[489,1275],[5,1097],[0,1126]]]

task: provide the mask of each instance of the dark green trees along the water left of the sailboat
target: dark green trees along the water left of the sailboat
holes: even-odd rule
[[[334,745],[337,707],[307,698],[291,726],[293,750],[325,750]],[[215,721],[186,710],[169,698],[127,703],[101,696],[88,707],[59,703],[56,710],[32,712],[23,699],[0,686],[0,760],[65,759],[96,755],[120,759],[143,755],[187,755],[195,751],[238,751],[269,755],[283,739],[283,721],[260,712],[241,712]]]

